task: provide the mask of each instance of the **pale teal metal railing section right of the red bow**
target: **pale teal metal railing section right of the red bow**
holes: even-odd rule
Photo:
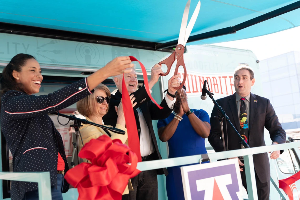
[[[300,147],[300,142],[289,142],[289,143],[279,144],[279,145],[270,145],[270,146],[253,147],[247,149],[238,149],[232,151],[211,153],[208,154],[208,157],[210,158],[210,160],[220,160],[225,158],[244,156],[248,198],[249,200],[258,200],[252,155],[261,154],[269,151],[278,151],[278,150],[292,149],[298,147]],[[181,166],[181,165],[188,165],[193,163],[196,164],[199,163],[201,158],[202,158],[201,155],[194,155],[194,156],[185,156],[185,157],[178,157],[178,158],[169,158],[163,160],[145,161],[145,162],[138,163],[137,169],[139,169],[140,171],[146,171],[151,169],[160,169],[164,167]],[[280,192],[279,193],[280,196],[282,195],[281,197],[286,198],[285,194],[281,193],[278,187],[276,189],[278,189],[277,191]]]

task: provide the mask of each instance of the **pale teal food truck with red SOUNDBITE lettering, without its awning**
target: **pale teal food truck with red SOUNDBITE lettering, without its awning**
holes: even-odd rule
[[[53,40],[40,37],[33,38],[30,36],[19,36],[3,33],[0,33],[0,36],[1,48],[10,49],[10,52],[1,55],[1,70],[3,70],[7,62],[9,62],[11,57],[13,57],[16,52],[29,53],[38,58],[44,76],[43,84],[38,95],[49,94],[53,91],[56,91],[67,84],[91,74],[99,67],[103,67],[114,57],[122,55],[135,56],[144,64],[147,69],[148,77],[150,77],[152,66],[170,55],[168,52],[153,52],[149,50],[127,47],[66,40]],[[14,43],[19,43],[21,45],[15,46]],[[27,48],[24,48],[24,46]],[[200,99],[204,80],[208,81],[208,85],[211,89],[211,92],[214,93],[215,99],[233,94],[233,71],[236,67],[242,65],[250,66],[253,69],[256,78],[255,86],[253,86],[253,93],[262,95],[259,61],[257,61],[257,58],[253,52],[249,50],[233,49],[213,45],[187,46],[186,49],[187,52],[184,54],[187,68],[187,80],[185,82],[185,86],[187,88],[189,106],[191,108],[204,109],[208,113],[210,113],[213,108],[214,104],[212,103],[211,99]],[[51,58],[51,60],[49,58]],[[139,86],[142,86],[144,84],[142,71],[139,64],[136,64]],[[166,67],[163,66],[163,71],[166,70]],[[152,96],[158,102],[162,100],[164,96],[163,91],[167,88],[167,81],[173,73],[174,71],[171,71],[169,75],[162,76],[159,82],[152,89]],[[183,70],[179,70],[181,79],[183,78],[183,73]],[[116,90],[116,86],[114,85],[112,79],[107,79],[104,84],[110,88],[112,93]],[[63,109],[60,112],[66,115],[75,114],[78,116],[76,114],[76,104]],[[70,127],[72,123],[70,122],[65,126],[61,126],[57,121],[56,115],[50,116],[56,128],[61,133],[62,138],[64,139],[65,153],[67,155],[69,165],[72,167],[74,164],[77,164],[76,145],[73,145],[76,144],[74,143],[76,141],[76,137],[74,130],[72,130]],[[67,119],[65,118],[60,118],[59,120],[61,124],[67,123]],[[157,121],[153,121],[153,127],[157,133],[156,123]],[[267,141],[267,145],[271,144],[271,140],[268,137],[268,131],[266,131],[265,140]],[[3,171],[11,172],[12,155],[10,154],[10,151],[7,151],[7,146],[3,136],[1,141],[2,169]],[[159,141],[158,136],[157,141],[162,157],[164,159],[168,158],[167,143]],[[214,152],[207,139],[206,148],[208,149],[208,153]],[[299,171],[299,155],[300,152],[298,149],[289,149],[285,150],[285,153],[280,155],[280,158],[278,158],[276,161],[270,160],[271,175],[274,181],[278,182],[278,180],[287,178]],[[164,189],[165,177],[163,175],[158,175],[158,182],[159,199],[167,199]],[[294,197],[299,195],[297,188],[300,188],[298,182],[296,182],[296,184],[293,186],[293,191],[297,192],[297,195],[294,194]],[[3,199],[9,197],[9,190],[10,182],[3,180]],[[63,196],[66,199],[77,199],[77,189],[70,188],[70,190],[67,193],[64,193]],[[244,194],[244,198],[247,198],[246,193]],[[279,194],[272,186],[270,199],[280,199]]]

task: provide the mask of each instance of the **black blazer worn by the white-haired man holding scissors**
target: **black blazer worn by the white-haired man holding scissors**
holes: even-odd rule
[[[141,133],[141,127],[140,127],[139,115],[137,112],[138,107],[140,107],[140,109],[142,110],[145,121],[146,121],[149,131],[151,133],[152,142],[155,147],[154,154],[156,155],[156,160],[162,159],[161,154],[159,153],[159,150],[158,150],[158,144],[157,144],[157,140],[156,140],[155,133],[153,130],[152,120],[165,119],[171,114],[172,110],[167,105],[167,102],[165,99],[160,104],[160,106],[162,106],[164,109],[159,109],[155,105],[155,103],[153,103],[150,100],[150,98],[146,92],[145,86],[141,87],[140,89],[138,89],[137,91],[135,91],[132,94],[134,94],[134,97],[136,97],[134,102],[137,102],[137,105],[134,107],[134,116],[135,116],[135,121],[137,122],[137,131],[139,134],[139,138],[140,138],[140,133]],[[119,90],[116,92],[115,95],[111,96],[109,111],[103,117],[103,121],[104,121],[105,125],[111,125],[113,127],[116,126],[118,115],[117,115],[115,106],[119,106],[119,104],[121,102],[121,98],[122,98],[122,94],[120,93]],[[164,174],[167,176],[168,171],[166,168],[158,169],[157,174]]]

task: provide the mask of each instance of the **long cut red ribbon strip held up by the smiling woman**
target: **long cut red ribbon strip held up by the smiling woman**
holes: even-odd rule
[[[134,58],[133,56],[129,56],[131,61],[138,61],[137,58]],[[156,104],[156,106],[160,109],[163,109],[151,96],[150,90],[149,90],[149,84],[148,84],[148,76],[147,76],[147,71],[144,65],[140,63],[140,66],[142,68],[143,72],[143,78],[144,78],[144,84],[145,84],[145,89],[150,97],[150,99]],[[123,111],[125,115],[125,122],[126,122],[126,128],[127,128],[127,133],[128,133],[128,146],[132,149],[132,151],[137,154],[138,157],[138,162],[142,162],[142,157],[141,157],[141,152],[140,152],[140,139],[139,135],[137,133],[137,124],[134,117],[134,111],[131,105],[131,100],[128,94],[127,87],[125,85],[124,81],[124,74],[123,74],[123,81],[122,81],[122,103],[123,103]]]

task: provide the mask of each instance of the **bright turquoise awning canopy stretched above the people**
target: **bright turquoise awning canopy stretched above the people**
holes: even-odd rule
[[[189,17],[197,0],[191,0]],[[205,0],[191,36],[237,25],[295,0]],[[64,31],[165,43],[176,40],[186,1],[23,1],[1,0],[0,22]],[[282,31],[300,25],[300,10],[242,29],[236,34],[199,40],[188,45],[239,40]]]

